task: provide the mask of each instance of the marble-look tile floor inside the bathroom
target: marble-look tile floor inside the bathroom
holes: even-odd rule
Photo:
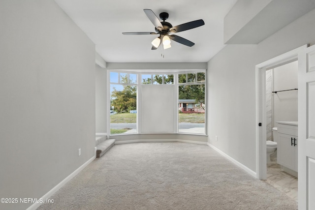
[[[298,202],[297,178],[282,171],[277,162],[267,164],[266,182]]]

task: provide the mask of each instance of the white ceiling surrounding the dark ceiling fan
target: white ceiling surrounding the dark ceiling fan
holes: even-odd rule
[[[106,62],[207,62],[223,47],[223,19],[237,0],[55,0],[95,43]],[[166,22],[177,26],[203,19],[204,26],[176,35],[195,43],[188,47],[172,41],[172,48],[151,50],[158,35],[143,9],[168,12]],[[164,58],[161,56],[164,55]]]

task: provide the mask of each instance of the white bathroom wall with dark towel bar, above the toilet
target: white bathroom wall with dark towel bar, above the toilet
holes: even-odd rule
[[[298,61],[287,63],[273,69],[273,91],[297,89]],[[297,90],[272,93],[273,126],[277,121],[297,121]]]

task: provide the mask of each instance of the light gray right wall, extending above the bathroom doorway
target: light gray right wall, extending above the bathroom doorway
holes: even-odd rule
[[[257,45],[227,45],[208,62],[208,142],[256,170],[255,65],[315,44],[315,10]],[[218,141],[215,141],[215,136]]]

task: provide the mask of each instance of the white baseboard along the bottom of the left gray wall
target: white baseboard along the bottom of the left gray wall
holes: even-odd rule
[[[72,178],[74,178],[79,172],[81,172],[87,165],[89,165],[94,159],[96,158],[96,152],[95,155],[89,159],[87,162],[85,162],[82,166],[77,168],[74,172],[72,172],[69,176],[67,176],[64,180],[62,180],[59,184],[57,184],[54,188],[49,190],[45,195],[41,197],[43,201],[46,201],[46,199],[50,198],[55,192],[57,192],[60,188],[63,187],[64,184],[66,184],[68,181],[70,181]],[[34,203],[32,206],[30,206],[27,210],[36,210],[41,203]]]

